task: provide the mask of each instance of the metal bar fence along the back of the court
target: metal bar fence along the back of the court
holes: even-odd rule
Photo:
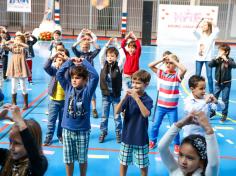
[[[127,30],[142,34],[142,13],[144,0],[128,0]],[[153,0],[152,38],[156,38],[157,11],[159,4],[190,5],[191,0]],[[97,10],[90,0],[60,0],[61,26],[63,33],[78,34],[82,28],[90,28],[97,35],[120,36],[122,0],[110,0],[110,6]],[[220,39],[231,39],[233,11],[236,0],[200,0],[200,5],[218,6],[218,26]],[[23,15],[7,12],[6,0],[0,0],[0,25],[8,26],[10,31],[22,29]],[[32,13],[26,13],[26,30],[33,30],[41,23],[44,15],[45,0],[32,0]]]

